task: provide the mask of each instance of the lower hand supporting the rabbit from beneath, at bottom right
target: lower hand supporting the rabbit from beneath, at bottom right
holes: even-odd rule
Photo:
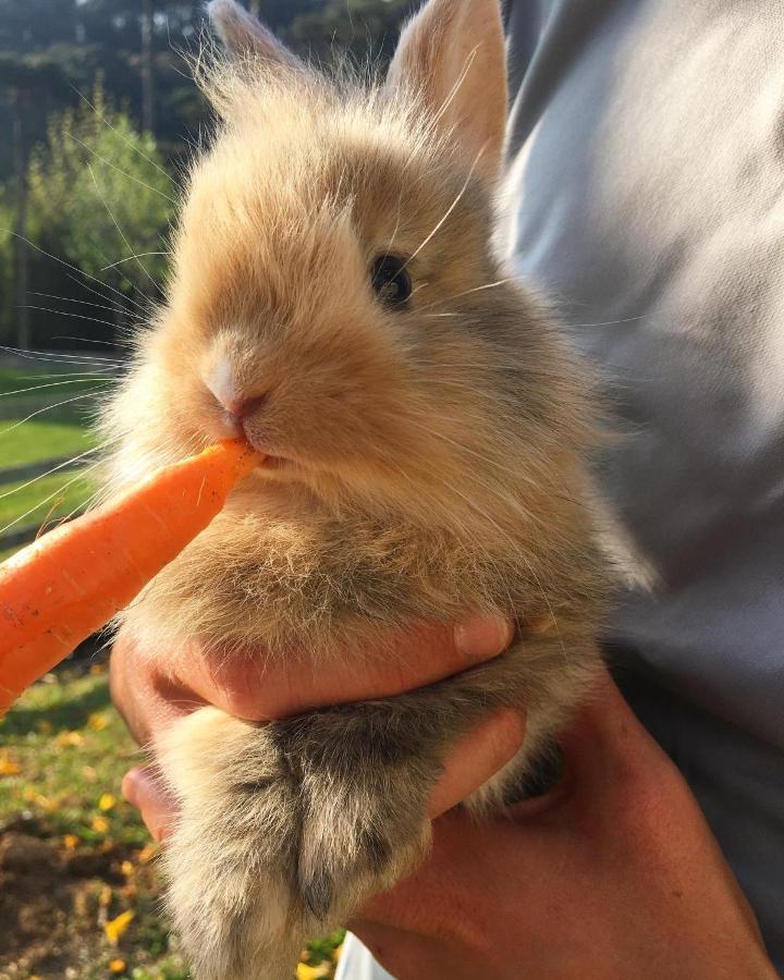
[[[433,823],[430,859],[350,923],[399,980],[775,978],[675,765],[604,677],[548,797]]]

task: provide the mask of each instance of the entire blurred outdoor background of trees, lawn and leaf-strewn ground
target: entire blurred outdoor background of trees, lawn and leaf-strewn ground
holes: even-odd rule
[[[0,560],[84,510],[90,419],[161,298],[208,110],[203,0],[0,0]],[[383,68],[409,0],[249,0],[286,44]],[[156,848],[120,796],[142,760],[100,638],[0,721],[0,980],[182,980]],[[341,934],[303,951],[331,977]]]

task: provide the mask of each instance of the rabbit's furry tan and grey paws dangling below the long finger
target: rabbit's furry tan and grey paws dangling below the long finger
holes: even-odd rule
[[[198,980],[290,980],[305,942],[427,852],[425,781],[365,739],[324,742],[324,725],[204,708],[168,735],[161,765],[181,807],[168,903]]]

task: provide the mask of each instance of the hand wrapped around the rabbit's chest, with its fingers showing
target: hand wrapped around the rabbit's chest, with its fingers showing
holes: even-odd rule
[[[292,651],[285,662],[262,658],[216,659],[198,649],[173,665],[150,659],[121,633],[111,657],[112,698],[139,744],[155,748],[166,728],[205,705],[264,722],[334,703],[392,697],[432,684],[501,653],[512,639],[505,623],[469,621],[454,629],[421,625],[394,637],[394,657],[335,661],[318,673],[309,658]],[[522,711],[488,719],[455,747],[433,791],[431,816],[443,812],[486,782],[518,750],[524,736]],[[175,817],[171,797],[149,768],[134,769],[123,793],[137,806],[150,833],[160,841]]]

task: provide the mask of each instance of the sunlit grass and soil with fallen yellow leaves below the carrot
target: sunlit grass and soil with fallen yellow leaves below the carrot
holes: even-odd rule
[[[120,796],[140,758],[100,662],[48,675],[0,721],[0,977],[188,977],[156,848]],[[313,943],[301,980],[332,977],[342,939]]]

